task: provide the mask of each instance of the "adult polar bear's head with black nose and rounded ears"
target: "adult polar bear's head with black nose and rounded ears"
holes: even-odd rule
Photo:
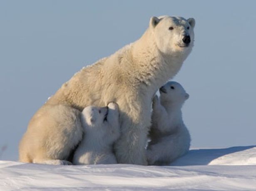
[[[149,30],[155,43],[164,54],[191,51],[194,44],[195,19],[182,17],[152,17]]]

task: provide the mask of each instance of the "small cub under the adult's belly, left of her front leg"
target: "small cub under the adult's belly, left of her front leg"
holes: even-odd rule
[[[111,102],[107,107],[87,106],[81,122],[85,135],[75,151],[73,164],[116,164],[113,144],[120,136],[118,105]]]

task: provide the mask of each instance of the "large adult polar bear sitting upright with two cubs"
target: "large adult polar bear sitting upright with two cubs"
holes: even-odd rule
[[[80,111],[116,102],[121,120],[117,160],[147,165],[152,98],[191,52],[194,26],[193,18],[152,17],[139,40],[76,73],[30,120],[20,142],[20,161],[68,164],[82,139]]]

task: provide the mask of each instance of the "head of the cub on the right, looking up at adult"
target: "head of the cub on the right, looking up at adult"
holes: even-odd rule
[[[159,89],[161,103],[174,103],[182,105],[186,99],[189,99],[189,94],[178,82],[167,82]]]

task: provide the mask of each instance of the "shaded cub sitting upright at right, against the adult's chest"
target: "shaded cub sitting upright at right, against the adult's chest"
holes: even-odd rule
[[[173,81],[167,82],[159,92],[160,97],[156,95],[152,103],[151,142],[147,148],[149,165],[169,164],[189,150],[191,141],[181,113],[189,94]]]

